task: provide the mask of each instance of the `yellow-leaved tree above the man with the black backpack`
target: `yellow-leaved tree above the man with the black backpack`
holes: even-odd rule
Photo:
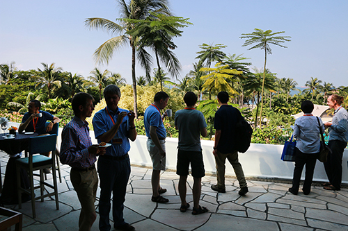
[[[205,80],[203,84],[203,91],[208,89],[209,100],[211,99],[211,92],[213,89],[216,91],[228,90],[230,93],[237,93],[235,88],[232,87],[230,82],[237,81],[235,75],[242,74],[242,71],[237,71],[236,69],[229,69],[228,65],[221,65],[220,62],[216,63],[215,68],[203,67],[201,71],[207,71],[208,74],[200,77]]]

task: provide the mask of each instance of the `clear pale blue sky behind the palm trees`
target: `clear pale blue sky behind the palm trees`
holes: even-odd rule
[[[15,62],[19,70],[55,63],[63,71],[85,78],[95,67],[121,74],[132,83],[129,46],[115,52],[109,65],[97,65],[93,53],[115,35],[86,28],[85,19],[102,17],[116,22],[120,17],[115,0],[0,0],[0,64]],[[348,1],[311,0],[169,0],[177,17],[189,18],[173,41],[182,65],[179,80],[198,62],[200,45],[224,44],[226,54],[250,58],[251,69],[262,69],[264,51],[242,46],[242,33],[254,28],[291,36],[287,48],[272,46],[267,68],[278,78],[292,78],[298,87],[310,77],[335,87],[348,86]],[[155,56],[153,56],[155,57]],[[164,67],[162,65],[162,67]],[[154,66],[155,68],[155,66]],[[168,72],[168,71],[166,71]],[[136,76],[145,76],[136,65]],[[175,82],[175,78],[173,78]]]

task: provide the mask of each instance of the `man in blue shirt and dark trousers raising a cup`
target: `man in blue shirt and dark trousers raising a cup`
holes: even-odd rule
[[[135,113],[118,108],[120,88],[108,85],[104,89],[106,108],[95,113],[93,128],[98,142],[112,144],[106,148],[106,154],[99,157],[98,173],[100,178],[99,228],[111,230],[109,223],[110,199],[113,194],[113,223],[117,230],[134,230],[132,225],[123,219],[123,203],[130,175],[128,151],[129,139],[136,139],[134,125]]]

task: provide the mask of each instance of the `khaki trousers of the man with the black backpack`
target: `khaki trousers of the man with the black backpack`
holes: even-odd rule
[[[217,182],[218,187],[221,189],[225,189],[225,162],[226,158],[230,164],[232,164],[233,170],[235,170],[235,174],[237,176],[237,180],[239,181],[239,187],[243,188],[246,187],[246,180],[244,177],[244,172],[242,169],[242,164],[238,161],[238,152],[235,151],[235,153],[227,153],[223,154],[219,151],[216,152],[215,156],[215,164],[216,164],[216,175],[217,175]]]

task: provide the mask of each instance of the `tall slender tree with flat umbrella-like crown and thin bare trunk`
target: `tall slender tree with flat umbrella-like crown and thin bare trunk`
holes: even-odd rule
[[[260,48],[264,50],[264,67],[263,67],[264,73],[263,73],[262,92],[261,92],[260,128],[261,128],[262,107],[263,107],[264,78],[266,76],[267,53],[268,54],[272,53],[271,47],[269,47],[269,44],[274,44],[276,46],[287,48],[286,46],[283,46],[281,43],[290,41],[288,39],[290,38],[290,36],[279,36],[278,34],[281,34],[281,33],[285,33],[285,31],[272,33],[271,30],[262,31],[258,28],[255,28],[255,31],[253,33],[242,34],[243,36],[239,37],[242,39],[246,39],[243,46],[249,46],[253,44],[253,46],[251,46],[251,48],[249,48],[248,50],[255,49],[255,48]]]

